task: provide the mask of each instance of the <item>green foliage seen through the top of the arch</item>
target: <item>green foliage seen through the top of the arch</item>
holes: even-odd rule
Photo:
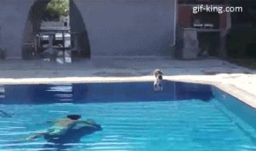
[[[66,17],[69,15],[69,0],[51,0],[46,10],[52,18]]]

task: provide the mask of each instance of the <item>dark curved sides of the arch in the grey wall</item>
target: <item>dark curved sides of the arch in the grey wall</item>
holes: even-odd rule
[[[45,8],[51,0],[36,0],[29,10],[22,37],[22,59],[37,59],[35,36],[39,34]],[[76,50],[78,57],[89,58],[90,46],[86,25],[76,3],[69,0],[69,25],[71,33],[72,50]]]

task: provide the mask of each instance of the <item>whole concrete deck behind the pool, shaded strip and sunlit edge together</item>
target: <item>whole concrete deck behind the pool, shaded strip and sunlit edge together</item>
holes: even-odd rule
[[[194,61],[168,58],[93,58],[56,62],[5,60],[0,62],[0,84],[152,81],[154,69],[164,79],[211,84],[256,108],[256,71],[221,59]]]

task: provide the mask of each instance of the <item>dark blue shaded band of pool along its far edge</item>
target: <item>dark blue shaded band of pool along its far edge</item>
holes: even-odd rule
[[[0,87],[2,104],[137,102],[212,98],[211,86],[163,81],[161,92],[152,82],[87,83],[66,85],[17,85]]]

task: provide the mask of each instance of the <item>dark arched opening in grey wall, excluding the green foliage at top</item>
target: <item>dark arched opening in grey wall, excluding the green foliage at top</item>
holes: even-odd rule
[[[49,13],[48,6],[52,1],[55,0],[36,0],[30,8],[22,38],[22,59],[42,58],[47,45],[62,45],[70,49],[72,56],[89,58],[86,25],[76,3],[66,0],[69,2],[68,16],[60,19]],[[66,42],[59,37],[70,40]]]

